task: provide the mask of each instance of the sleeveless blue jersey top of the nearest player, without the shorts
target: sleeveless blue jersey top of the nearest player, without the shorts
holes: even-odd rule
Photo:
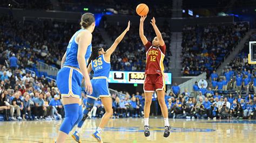
[[[85,31],[85,29],[78,30],[75,34],[73,34],[72,38],[70,39],[69,45],[66,48],[66,61],[64,63],[64,66],[79,68],[78,61],[77,61],[78,42],[76,41],[76,37],[78,33],[82,31]],[[85,54],[86,65],[88,65],[91,53],[92,53],[92,45],[90,44],[87,47],[87,51]]]

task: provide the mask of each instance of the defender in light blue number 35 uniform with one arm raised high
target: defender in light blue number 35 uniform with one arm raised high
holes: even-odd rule
[[[102,104],[105,108],[105,114],[102,117],[102,120],[100,121],[100,124],[96,130],[95,133],[92,134],[92,136],[97,139],[98,142],[103,142],[102,138],[100,137],[100,134],[102,132],[103,127],[107,124],[107,121],[109,121],[109,118],[113,114],[112,110],[112,98],[109,93],[109,83],[107,82],[107,78],[109,77],[110,73],[110,56],[116,49],[117,45],[120,41],[124,38],[127,31],[129,31],[130,28],[130,21],[128,22],[127,28],[124,30],[122,34],[119,35],[119,37],[114,41],[113,45],[107,49],[105,52],[102,47],[93,47],[92,48],[92,55],[91,55],[91,63],[88,66],[88,73],[91,73],[91,70],[93,70],[94,75],[91,80],[93,92],[92,95],[87,96],[87,102],[86,102],[86,108],[83,111],[84,116],[83,119],[78,123],[76,131],[72,134],[72,137],[79,141],[79,132],[80,128],[82,127],[85,119],[88,117],[88,112],[91,111],[93,108],[93,104],[95,103],[95,100],[100,97]]]

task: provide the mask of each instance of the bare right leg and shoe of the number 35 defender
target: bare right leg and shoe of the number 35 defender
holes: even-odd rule
[[[111,97],[100,97],[102,100],[102,104],[105,108],[105,114],[102,117],[102,120],[99,123],[99,127],[97,128],[96,132],[92,134],[92,137],[95,138],[99,142],[103,142],[102,138],[100,137],[102,133],[103,127],[107,124],[110,117],[113,115],[113,109],[112,109],[112,98]]]

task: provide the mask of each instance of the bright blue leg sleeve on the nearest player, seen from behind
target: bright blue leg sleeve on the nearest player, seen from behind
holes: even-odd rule
[[[73,125],[75,125],[78,119],[79,104],[67,104],[64,105],[65,118],[59,131],[69,134]]]

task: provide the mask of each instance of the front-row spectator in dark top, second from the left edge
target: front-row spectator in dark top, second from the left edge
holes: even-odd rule
[[[23,102],[22,100],[19,98],[19,93],[16,92],[14,94],[15,98],[12,99],[11,103],[13,105],[13,108],[16,110],[16,116],[17,119],[22,120],[21,118],[21,111],[23,111]],[[22,112],[24,114],[24,112]],[[13,117],[13,113],[11,113],[11,118]]]

